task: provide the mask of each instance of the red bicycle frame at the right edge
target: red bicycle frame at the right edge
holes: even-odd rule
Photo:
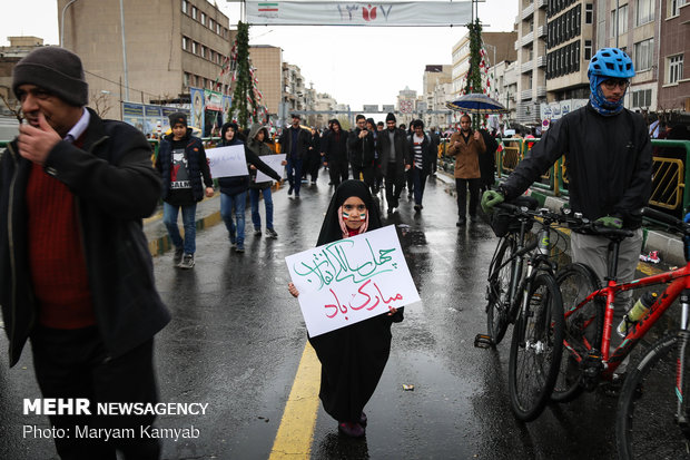
[[[658,296],[657,301],[651,305],[649,312],[637,323],[631,324],[628,335],[623,339],[623,342],[613,351],[609,353],[609,346],[611,344],[611,334],[613,332],[613,298],[618,292],[630,291],[639,287],[653,286],[659,284],[668,284],[666,290]],[[594,302],[597,297],[605,298],[604,310],[604,324],[603,336],[601,343],[601,355],[604,363],[604,370],[602,372],[603,378],[609,378],[618,369],[621,362],[628,356],[634,345],[647,334],[651,326],[663,315],[663,313],[673,304],[683,290],[690,288],[690,263],[686,266],[658,275],[645,276],[642,278],[633,280],[628,283],[617,283],[613,280],[609,280],[608,285],[593,293],[589,294],[586,298],[580,302],[578,305],[565,312],[565,319],[572,315],[575,311],[580,310],[589,302]],[[688,331],[688,312],[683,311],[681,317],[680,329]],[[581,362],[584,358],[581,356],[569,343],[563,341],[563,345],[566,346]],[[591,344],[585,342],[585,346],[592,350]]]

